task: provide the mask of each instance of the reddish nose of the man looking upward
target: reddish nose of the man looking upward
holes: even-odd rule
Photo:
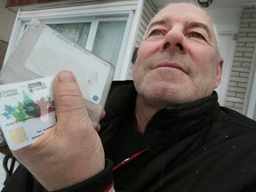
[[[172,28],[165,35],[164,44],[162,45],[163,50],[174,49],[176,51],[185,53],[186,45],[185,45],[185,36],[183,32],[179,28]]]

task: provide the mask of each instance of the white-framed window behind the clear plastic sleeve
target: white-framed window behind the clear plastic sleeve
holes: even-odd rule
[[[118,79],[124,57],[123,47],[127,42],[133,12],[105,11],[88,14],[86,10],[83,11],[83,8],[79,8],[81,12],[77,14],[72,9],[68,9],[68,13],[67,10],[61,9],[56,13],[56,10],[18,12],[10,48],[6,53],[7,57],[14,49],[28,22],[31,19],[37,19],[59,31],[63,36],[81,47],[113,64],[116,68],[114,78]]]

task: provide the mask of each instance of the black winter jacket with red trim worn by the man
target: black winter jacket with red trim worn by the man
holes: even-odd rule
[[[211,97],[159,110],[142,135],[136,132],[135,98],[132,82],[113,83],[100,131],[106,169],[61,192],[108,191],[113,178],[116,191],[256,191],[254,121],[221,108],[213,92]],[[44,188],[20,166],[3,191]]]

